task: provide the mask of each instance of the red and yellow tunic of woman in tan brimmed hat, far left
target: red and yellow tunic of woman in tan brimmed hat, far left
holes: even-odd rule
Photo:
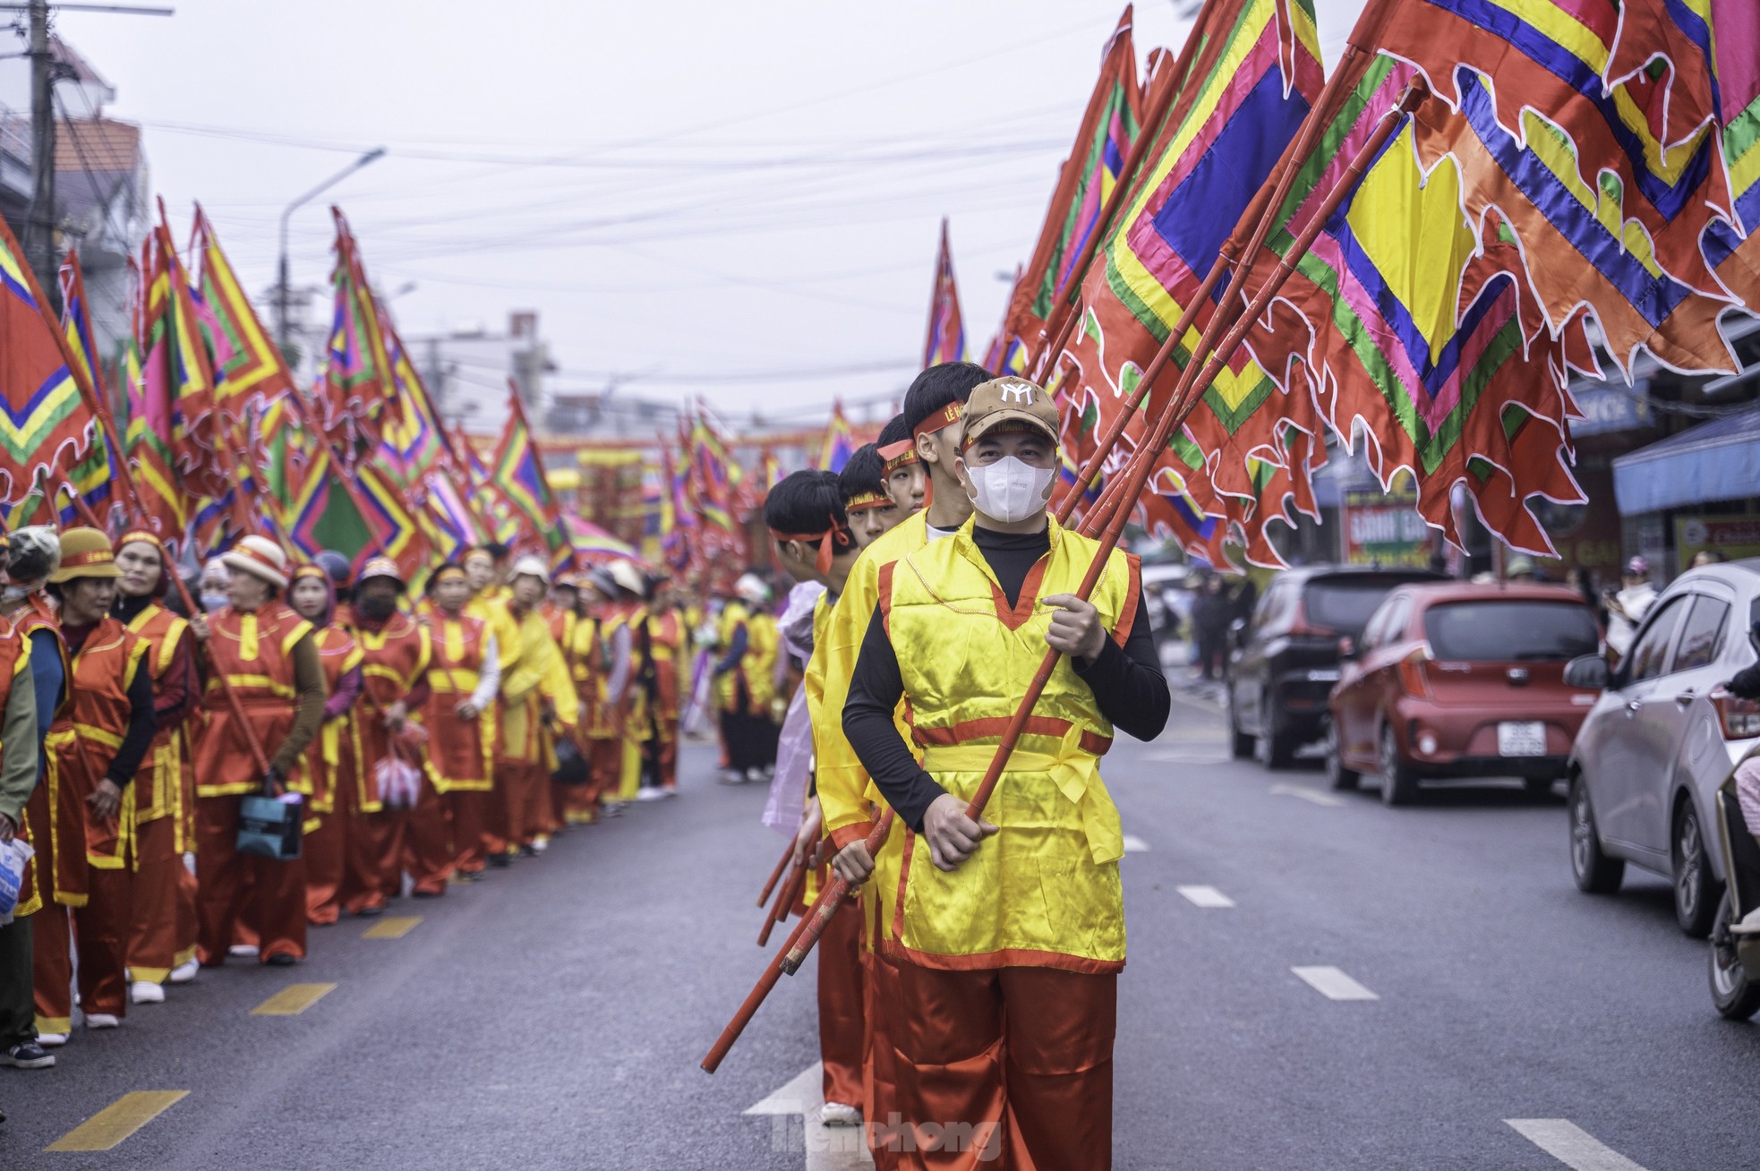
[[[114,618],[100,618],[74,653],[69,676],[69,703],[49,725],[48,752],[55,757],[62,789],[81,805],[92,796],[109,768],[123,736],[128,734],[128,680],[146,659],[150,643]],[[86,815],[86,863],[99,870],[128,865],[134,842],[134,785],[123,791],[116,817],[97,821]],[[56,842],[60,847],[60,842]]]

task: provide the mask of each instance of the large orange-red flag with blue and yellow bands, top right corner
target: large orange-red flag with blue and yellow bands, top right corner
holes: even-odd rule
[[[1661,33],[1684,18],[1709,49],[1698,7],[1404,0],[1362,42],[1424,72],[1436,97],[1417,114],[1419,158],[1459,173],[1471,218],[1503,217],[1554,336],[1586,306],[1621,370],[1640,349],[1677,370],[1735,368],[1718,331],[1732,299],[1702,243],[1732,204],[1716,76],[1690,37]]]

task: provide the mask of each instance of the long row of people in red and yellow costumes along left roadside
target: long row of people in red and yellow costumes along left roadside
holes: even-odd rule
[[[167,599],[150,532],[0,537],[0,1064],[231,956],[442,896],[676,789],[690,616],[632,562],[558,576],[503,546],[433,569],[292,563],[245,537]],[[224,592],[224,604],[216,592]],[[296,847],[252,849],[252,803]],[[246,833],[241,835],[241,829]],[[16,843],[16,845],[14,845]]]

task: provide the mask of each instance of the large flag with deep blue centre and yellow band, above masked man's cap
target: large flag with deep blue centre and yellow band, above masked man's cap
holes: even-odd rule
[[[1054,379],[1067,416],[1065,433],[1091,451],[1137,394],[1144,370],[1174,326],[1195,308],[1176,342],[1172,368],[1149,396],[1146,412],[1126,419],[1119,467],[1190,361],[1214,308],[1197,303],[1204,278],[1218,264],[1258,188],[1318,100],[1324,76],[1308,0],[1209,0],[1190,33],[1195,51],[1170,113],[1132,181],[1125,210],[1102,241],[1082,287],[1082,315],[1067,368]],[[1246,460],[1232,465],[1221,449],[1274,454],[1287,421],[1313,433],[1313,407],[1280,394],[1251,354],[1234,356],[1186,424],[1186,458],[1160,456],[1155,482],[1181,507],[1223,512],[1218,493],[1257,491]],[[1176,437],[1179,442],[1181,437]],[[1200,453],[1195,454],[1193,453]],[[1221,477],[1221,482],[1213,482]],[[1074,475],[1067,477],[1074,479]],[[1207,541],[1199,523],[1192,541]]]

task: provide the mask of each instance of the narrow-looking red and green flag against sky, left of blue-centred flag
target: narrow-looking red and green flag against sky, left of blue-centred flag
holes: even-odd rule
[[[1137,48],[1132,42],[1132,5],[1100,58],[1100,77],[1075,143],[1058,171],[1045,222],[1024,271],[1016,278],[991,368],[1023,372],[1028,352],[1040,345],[1052,306],[1079,282],[1075,262],[1096,231],[1112,190],[1125,181],[1125,157],[1142,122],[1137,85]]]

